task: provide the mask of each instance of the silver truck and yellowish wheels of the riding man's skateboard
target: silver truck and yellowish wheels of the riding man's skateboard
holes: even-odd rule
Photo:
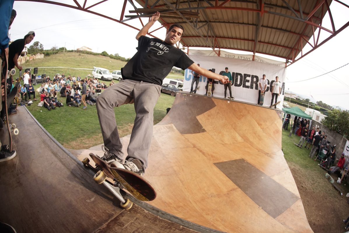
[[[82,163],[84,164],[84,166],[87,166],[89,168],[91,168],[92,170],[96,170],[94,167],[92,167],[89,163],[90,163],[90,159],[89,158],[84,158],[82,160]],[[130,201],[128,198],[126,198],[126,200],[124,199],[124,197],[122,197],[121,193],[120,193],[120,187],[122,186],[120,182],[116,181],[114,179],[114,184],[111,185],[110,183],[108,183],[106,181],[106,175],[104,174],[103,171],[98,171],[93,179],[96,181],[96,183],[103,184],[116,198],[118,198],[118,200],[121,202],[120,206],[125,209],[125,210],[129,210],[131,209],[133,202]]]

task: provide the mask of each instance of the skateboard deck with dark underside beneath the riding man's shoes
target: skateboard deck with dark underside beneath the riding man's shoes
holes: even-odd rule
[[[90,153],[89,155],[91,159],[95,162],[96,167],[94,168],[89,164],[88,158],[85,158],[83,160],[84,166],[89,167],[93,171],[97,172],[97,174],[102,171],[105,177],[108,177],[116,181],[113,186],[126,189],[129,193],[131,193],[135,198],[137,198],[140,201],[152,201],[156,198],[155,189],[142,176],[134,172],[128,171],[126,169],[112,167],[109,164],[107,164],[103,159],[94,155],[93,153]],[[103,181],[99,183],[103,183]],[[117,198],[119,197],[117,196]],[[122,202],[122,200],[120,201]]]

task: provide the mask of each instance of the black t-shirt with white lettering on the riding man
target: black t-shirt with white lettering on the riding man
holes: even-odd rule
[[[173,66],[184,70],[194,63],[182,50],[156,38],[139,37],[137,49],[137,53],[121,68],[123,79],[161,85]]]

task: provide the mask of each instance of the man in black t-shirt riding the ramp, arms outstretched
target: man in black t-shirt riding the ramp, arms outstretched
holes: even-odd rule
[[[96,103],[104,142],[103,159],[107,163],[119,161],[121,166],[138,174],[143,174],[148,166],[154,107],[161,93],[162,80],[171,72],[172,67],[188,68],[222,83],[228,82],[227,77],[199,67],[182,50],[173,46],[184,33],[181,25],[171,25],[164,41],[146,37],[148,30],[159,17],[159,12],[153,14],[150,21],[136,35],[138,52],[121,69],[123,80],[105,89]],[[128,155],[126,160],[122,161],[124,155],[114,107],[132,103],[135,105],[136,118],[127,148]]]

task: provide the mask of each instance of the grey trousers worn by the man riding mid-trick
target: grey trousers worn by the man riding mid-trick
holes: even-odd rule
[[[96,107],[103,142],[114,155],[123,158],[122,144],[115,120],[114,107],[134,103],[136,118],[127,148],[128,158],[148,166],[148,153],[153,137],[154,107],[161,94],[161,86],[136,80],[122,80],[109,86],[98,96]]]

